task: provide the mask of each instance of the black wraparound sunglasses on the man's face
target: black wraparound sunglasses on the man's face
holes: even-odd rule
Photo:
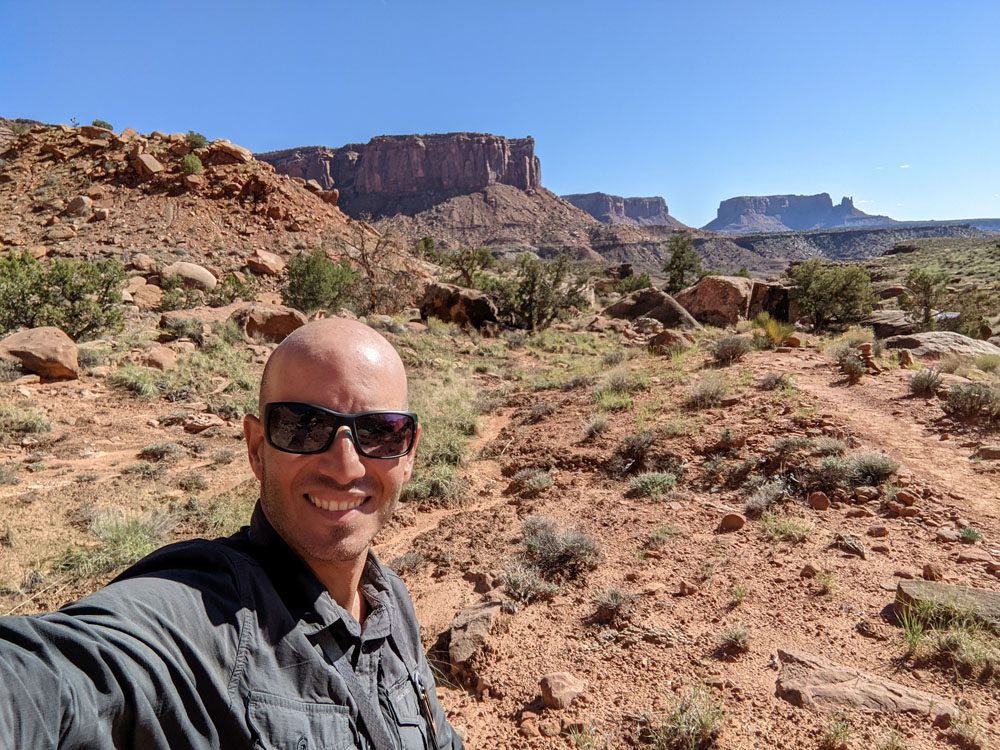
[[[285,453],[322,453],[346,426],[358,454],[365,458],[399,458],[413,449],[417,415],[408,411],[365,411],[341,414],[314,404],[279,401],[264,407],[267,442]]]

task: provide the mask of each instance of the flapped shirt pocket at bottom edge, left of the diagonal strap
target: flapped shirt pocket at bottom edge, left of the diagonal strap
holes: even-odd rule
[[[254,750],[356,750],[347,706],[250,693]]]

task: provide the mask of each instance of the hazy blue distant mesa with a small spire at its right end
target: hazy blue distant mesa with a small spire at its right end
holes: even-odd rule
[[[750,195],[719,204],[711,232],[791,232],[814,229],[875,229],[896,225],[888,216],[873,216],[854,207],[851,198],[833,204],[829,193],[819,195]]]

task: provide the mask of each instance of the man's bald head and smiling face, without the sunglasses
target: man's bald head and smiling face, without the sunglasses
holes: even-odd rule
[[[271,355],[261,404],[277,401],[345,413],[405,410],[406,374],[375,331],[329,318],[300,328]],[[363,458],[341,427],[323,453],[284,453],[267,444],[254,416],[244,420],[244,434],[261,484],[261,507],[288,545],[317,573],[363,562],[410,478],[414,451],[401,458]]]

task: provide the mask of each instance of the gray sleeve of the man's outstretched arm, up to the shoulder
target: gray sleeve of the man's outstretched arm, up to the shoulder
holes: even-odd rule
[[[232,571],[143,565],[58,612],[0,618],[5,746],[219,747],[220,728],[238,730],[225,726],[240,663]]]

